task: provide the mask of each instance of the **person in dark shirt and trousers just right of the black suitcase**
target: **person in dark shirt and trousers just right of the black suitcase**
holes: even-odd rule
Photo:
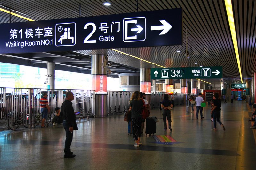
[[[161,107],[164,109],[163,110],[163,122],[164,122],[164,130],[166,131],[166,118],[167,118],[167,121],[168,121],[168,128],[170,129],[170,131],[172,132],[172,126],[171,126],[171,122],[172,122],[172,119],[171,119],[171,108],[173,107],[172,105],[172,101],[169,100],[169,96],[168,94],[164,94],[164,100],[161,104]]]

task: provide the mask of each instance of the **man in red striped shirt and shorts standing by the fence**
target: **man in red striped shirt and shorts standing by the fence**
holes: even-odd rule
[[[48,117],[48,113],[50,112],[50,107],[49,107],[47,96],[48,96],[47,93],[43,93],[43,97],[39,101],[42,118],[43,118],[41,128],[48,127],[47,125],[44,125],[44,122],[46,121],[46,119]]]

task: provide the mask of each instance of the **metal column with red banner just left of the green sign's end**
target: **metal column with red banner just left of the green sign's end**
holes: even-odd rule
[[[150,68],[140,68],[140,92],[146,93],[146,100],[151,101]]]

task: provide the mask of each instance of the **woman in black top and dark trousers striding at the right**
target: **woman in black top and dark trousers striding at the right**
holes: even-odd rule
[[[213,96],[214,99],[214,104],[213,104],[213,108],[211,109],[211,114],[213,115],[213,124],[214,124],[214,128],[212,128],[212,130],[217,130],[217,122],[220,123],[221,127],[223,128],[223,130],[225,129],[225,126],[220,122],[220,107],[221,107],[221,101],[219,99],[219,93],[214,93]],[[217,120],[217,122],[216,122]]]

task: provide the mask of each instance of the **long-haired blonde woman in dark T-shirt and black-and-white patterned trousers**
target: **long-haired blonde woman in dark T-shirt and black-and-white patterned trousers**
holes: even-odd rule
[[[140,98],[140,92],[135,91],[130,100],[130,108],[132,111],[132,126],[133,126],[133,139],[135,141],[134,147],[139,147],[141,137],[141,124],[142,124],[142,107],[144,103]]]

